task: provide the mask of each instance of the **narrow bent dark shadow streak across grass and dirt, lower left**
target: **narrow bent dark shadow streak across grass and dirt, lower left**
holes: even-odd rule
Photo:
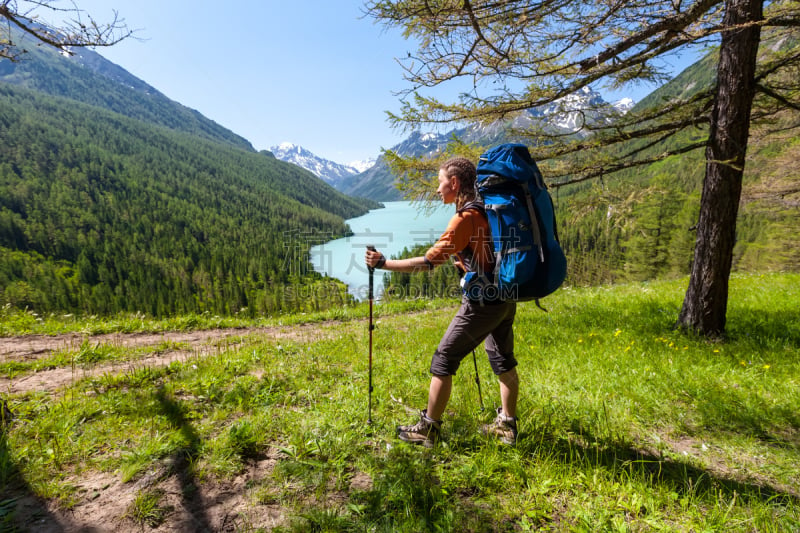
[[[170,470],[178,476],[183,506],[192,517],[191,526],[195,528],[195,531],[213,531],[214,528],[206,512],[206,502],[203,501],[198,490],[197,479],[192,467],[200,453],[200,437],[192,427],[186,410],[180,402],[169,397],[163,388],[158,389],[156,399],[169,423],[180,431],[187,442],[185,448],[172,455]]]

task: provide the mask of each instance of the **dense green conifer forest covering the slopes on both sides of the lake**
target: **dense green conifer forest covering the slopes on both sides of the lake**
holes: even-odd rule
[[[257,315],[348,301],[311,270],[308,249],[376,203],[256,152],[93,52],[30,55],[0,63],[0,305]],[[640,105],[713,83],[713,61]],[[753,128],[734,271],[800,269],[797,116]],[[568,283],[688,274],[703,175],[696,150],[551,189]],[[450,294],[455,277],[393,274],[387,297]]]

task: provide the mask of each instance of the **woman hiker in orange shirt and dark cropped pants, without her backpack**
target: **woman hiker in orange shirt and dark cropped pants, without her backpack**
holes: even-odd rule
[[[367,266],[393,272],[420,272],[444,264],[452,256],[465,272],[492,272],[494,254],[489,223],[475,189],[476,169],[466,158],[457,157],[439,168],[436,193],[445,204],[455,203],[456,213],[438,242],[422,257],[387,259],[379,251],[368,250]],[[517,395],[519,378],[514,359],[514,315],[516,303],[506,301],[478,302],[466,296],[433,354],[428,390],[428,406],[420,420],[397,428],[398,437],[406,442],[432,447],[439,438],[442,415],[450,399],[453,376],[461,360],[486,340],[489,363],[500,382],[501,407],[494,422],[482,428],[487,435],[501,438],[506,444],[517,440]]]

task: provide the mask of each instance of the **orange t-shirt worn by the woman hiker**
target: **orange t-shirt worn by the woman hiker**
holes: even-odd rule
[[[456,256],[456,266],[463,272],[492,271],[492,235],[481,211],[466,209],[453,215],[436,244],[425,252],[425,259],[434,266],[446,263],[450,256]]]

